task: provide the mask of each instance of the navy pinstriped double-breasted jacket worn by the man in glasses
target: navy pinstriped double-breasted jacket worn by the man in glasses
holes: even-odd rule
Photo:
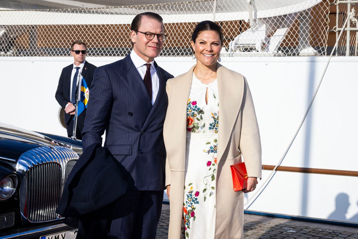
[[[156,68],[160,82],[153,106],[130,56],[98,67],[90,88],[82,134],[84,149],[102,143],[106,130],[105,147],[127,170],[130,190],[164,190],[165,83],[173,76]]]

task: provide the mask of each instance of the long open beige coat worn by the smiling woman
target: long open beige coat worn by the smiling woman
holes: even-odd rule
[[[169,239],[179,239],[183,217],[187,102],[193,66],[168,80],[164,123],[166,185],[170,186]],[[243,238],[243,192],[234,192],[230,165],[245,159],[248,177],[261,178],[261,142],[245,77],[217,63],[219,132],[216,177],[216,239]],[[204,239],[204,238],[194,238]]]

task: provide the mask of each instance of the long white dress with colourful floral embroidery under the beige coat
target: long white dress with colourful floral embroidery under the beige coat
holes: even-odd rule
[[[193,74],[187,106],[183,238],[215,236],[218,130],[217,81],[205,85]]]

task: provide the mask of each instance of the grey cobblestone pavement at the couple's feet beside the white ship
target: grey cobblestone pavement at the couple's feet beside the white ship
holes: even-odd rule
[[[163,204],[156,239],[168,238],[169,205]],[[245,214],[245,239],[355,239],[358,228]],[[200,238],[205,239],[205,238]]]

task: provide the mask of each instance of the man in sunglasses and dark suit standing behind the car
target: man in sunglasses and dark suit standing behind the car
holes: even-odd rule
[[[78,74],[81,72],[83,78],[86,80],[87,86],[90,87],[93,73],[97,68],[86,61],[87,47],[86,44],[80,40],[75,40],[72,43],[70,53],[73,56],[74,62],[62,69],[55,94],[58,104],[65,110],[65,123],[68,137],[71,137],[73,133],[73,116],[76,110],[74,104],[76,102],[77,84],[79,80]],[[77,139],[82,139],[81,132],[83,130],[85,117],[86,110],[78,116],[76,129]]]

